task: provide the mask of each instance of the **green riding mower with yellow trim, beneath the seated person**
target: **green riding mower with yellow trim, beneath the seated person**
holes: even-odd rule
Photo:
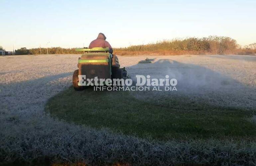
[[[85,75],[86,79],[113,79],[126,78],[127,71],[120,68],[118,57],[109,53],[109,48],[78,48],[77,51],[84,51],[78,58],[78,69],[73,73],[73,86],[75,90],[83,90],[78,75]],[[92,82],[94,84],[94,82]]]

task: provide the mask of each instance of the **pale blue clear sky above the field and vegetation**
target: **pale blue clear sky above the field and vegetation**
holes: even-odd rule
[[[112,47],[210,35],[256,42],[256,0],[0,0],[0,46]],[[49,43],[48,43],[49,42]]]

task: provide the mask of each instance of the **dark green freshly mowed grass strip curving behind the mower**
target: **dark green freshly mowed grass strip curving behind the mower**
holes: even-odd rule
[[[160,140],[187,138],[254,138],[251,111],[188,105],[186,99],[161,104],[134,98],[129,92],[76,92],[72,87],[51,98],[46,111],[67,122]]]

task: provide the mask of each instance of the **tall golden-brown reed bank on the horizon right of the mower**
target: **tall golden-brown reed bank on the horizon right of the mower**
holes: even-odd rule
[[[234,54],[237,43],[229,37],[209,36],[208,38],[186,38],[164,40],[146,45],[133,45],[125,48],[116,48],[116,52],[158,52],[160,54],[183,53],[211,53]]]

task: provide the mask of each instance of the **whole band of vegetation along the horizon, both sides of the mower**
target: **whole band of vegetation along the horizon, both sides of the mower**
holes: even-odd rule
[[[18,49],[16,54],[40,54],[40,48]],[[42,54],[47,54],[46,48],[41,48]],[[48,48],[49,54],[81,54],[75,48]],[[229,37],[209,36],[208,38],[174,39],[159,41],[146,45],[133,45],[125,48],[114,48],[118,55],[181,55],[181,54],[239,54],[255,55],[255,49],[238,49],[234,39]]]

